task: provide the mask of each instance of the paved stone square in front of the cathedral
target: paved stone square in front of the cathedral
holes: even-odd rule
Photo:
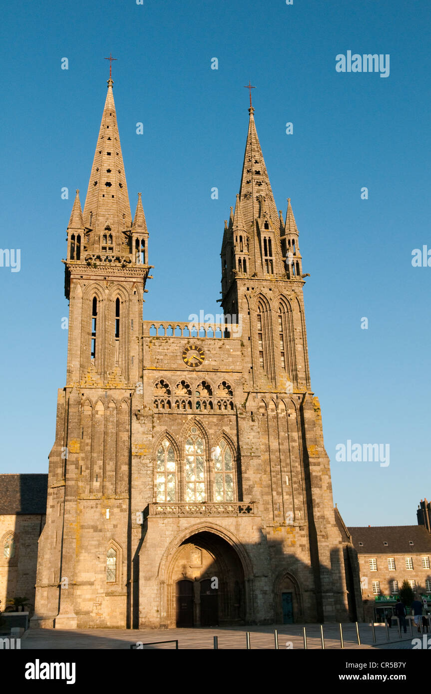
[[[180,649],[210,649],[214,648],[214,636],[218,637],[219,649],[245,649],[246,632],[250,632],[251,649],[267,650],[274,648],[274,629],[278,630],[278,648],[303,649],[303,626],[307,632],[307,648],[321,649],[320,625],[270,625],[250,627],[210,627],[201,629],[29,629],[22,638],[22,649],[35,650],[74,650],[74,649],[130,649],[131,644],[151,641],[168,641],[178,639]],[[384,625],[375,625],[377,643],[373,644],[371,626],[360,624],[361,645],[357,644],[356,627],[352,623],[343,625],[344,648],[371,649],[412,648],[412,636],[402,634],[399,641],[398,629],[389,629],[391,643],[387,643]],[[339,649],[339,625],[326,624],[323,626],[325,648]],[[414,629],[413,637],[418,636]],[[287,643],[290,642],[290,645]],[[175,649],[175,643],[148,645],[147,649]]]

